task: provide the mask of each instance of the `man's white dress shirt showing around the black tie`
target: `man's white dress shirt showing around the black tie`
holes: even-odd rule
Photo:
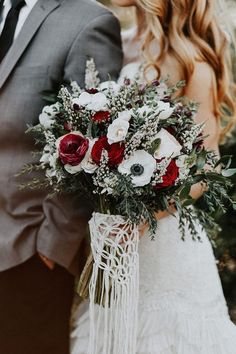
[[[37,1],[38,0],[25,0],[25,6],[23,6],[22,9],[20,10],[19,19],[17,22],[16,30],[15,30],[14,40],[16,39],[18,34],[20,33],[20,30],[22,29],[23,24],[25,23],[25,20],[29,16],[32,8],[34,7],[34,5],[36,4]],[[9,10],[11,9],[11,6],[12,6],[11,0],[4,1],[2,16],[0,18],[0,34],[2,33],[6,17],[7,17]]]

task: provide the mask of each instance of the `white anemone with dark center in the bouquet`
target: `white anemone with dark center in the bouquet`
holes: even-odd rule
[[[131,175],[135,187],[150,183],[156,169],[156,160],[145,150],[137,150],[119,166],[121,174]]]

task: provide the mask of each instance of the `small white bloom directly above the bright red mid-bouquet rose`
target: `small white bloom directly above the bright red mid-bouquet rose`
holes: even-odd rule
[[[129,122],[124,119],[115,119],[108,127],[107,138],[108,143],[113,144],[123,141],[129,130]]]

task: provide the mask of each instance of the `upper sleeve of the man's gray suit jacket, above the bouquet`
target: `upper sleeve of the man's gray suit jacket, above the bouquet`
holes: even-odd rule
[[[109,12],[96,17],[75,38],[65,63],[64,81],[76,80],[83,86],[90,58],[95,60],[102,81],[118,78],[123,64],[120,25]]]

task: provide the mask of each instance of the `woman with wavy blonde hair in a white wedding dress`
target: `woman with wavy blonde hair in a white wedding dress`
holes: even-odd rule
[[[137,27],[124,34],[125,67],[135,75],[141,62],[147,76],[186,80],[180,95],[200,104],[196,121],[206,122],[206,146],[218,143],[233,125],[235,107],[227,66],[228,43],[216,20],[216,0],[113,0],[137,8]],[[132,79],[132,77],[131,77]],[[227,105],[231,117],[224,116]],[[222,120],[227,120],[224,130]],[[201,195],[201,187],[192,196]],[[187,233],[183,242],[178,218],[157,212],[154,242],[141,237],[138,307],[138,354],[234,354],[236,327],[230,321],[216,261],[207,235],[202,242]],[[76,319],[72,354],[86,354],[89,312]],[[102,328],[101,328],[102,348]],[[103,353],[100,349],[99,353]],[[112,353],[109,353],[112,354]],[[129,354],[129,353],[119,353]]]

